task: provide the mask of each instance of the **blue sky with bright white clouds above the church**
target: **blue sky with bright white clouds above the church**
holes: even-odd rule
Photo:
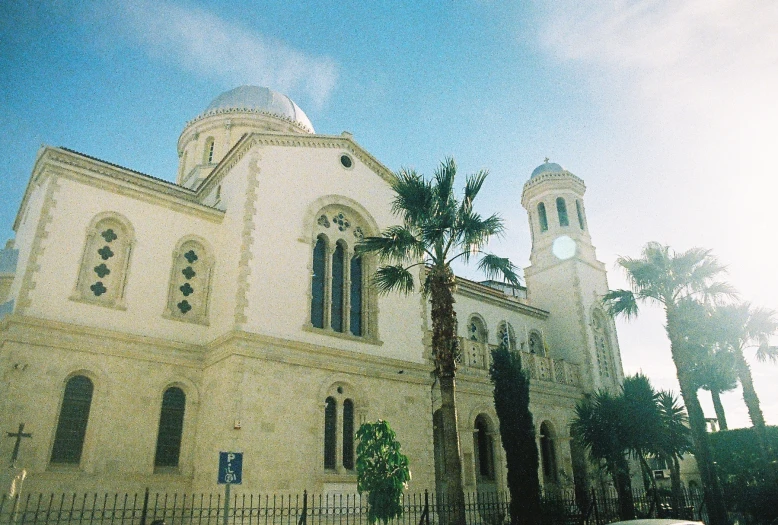
[[[778,310],[778,2],[445,0],[0,3],[0,242],[42,144],[174,180],[185,123],[253,84],[389,169],[488,169],[490,249],[529,264],[521,191],[545,157],[587,186],[612,288],[648,241],[711,249]],[[479,276],[462,269],[466,277]],[[618,321],[627,374],[678,390],[659,310]],[[747,351],[753,355],[752,351]],[[778,365],[754,363],[769,424]],[[712,405],[701,393],[706,413]],[[731,427],[748,426],[740,391]]]

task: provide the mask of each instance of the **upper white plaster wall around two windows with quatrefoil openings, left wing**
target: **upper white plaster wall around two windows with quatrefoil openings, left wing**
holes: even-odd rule
[[[202,343],[226,328],[219,314],[234,298],[237,250],[227,249],[230,230],[219,224],[176,212],[164,205],[115,194],[63,177],[47,237],[34,275],[32,304],[27,313],[86,326]],[[70,300],[76,286],[87,229],[102,212],[126,217],[135,231],[135,244],[126,278],[126,310]],[[196,234],[215,252],[211,281],[213,326],[181,322],[162,316],[167,304],[172,253],[178,241]],[[235,243],[232,243],[233,246]],[[22,263],[23,264],[23,263]],[[232,291],[232,293],[230,293]]]

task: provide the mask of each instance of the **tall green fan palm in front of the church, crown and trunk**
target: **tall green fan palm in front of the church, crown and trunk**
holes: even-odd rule
[[[444,464],[448,473],[446,499],[451,504],[452,523],[464,525],[465,503],[462,488],[462,462],[455,402],[459,348],[456,339],[454,289],[456,277],[451,263],[480,257],[478,268],[487,278],[503,278],[517,285],[515,267],[508,259],[486,254],[483,248],[493,235],[503,232],[498,215],[483,218],[473,209],[473,201],[488,173],[467,177],[464,196],[454,195],[456,164],[448,158],[435,171],[432,181],[413,170],[401,169],[392,182],[395,197],[392,211],[402,224],[390,226],[379,237],[366,237],[356,247],[358,254],[377,255],[380,266],[373,281],[380,293],[411,293],[411,269],[421,266],[421,291],[429,298],[432,317],[432,356],[434,373],[440,384],[443,423]]]

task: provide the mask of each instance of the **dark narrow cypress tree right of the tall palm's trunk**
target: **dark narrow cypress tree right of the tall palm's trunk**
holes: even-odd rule
[[[529,378],[521,359],[501,344],[492,350],[489,374],[494,383],[494,409],[500,420],[500,438],[508,464],[511,524],[540,523],[540,480],[535,425],[529,411]]]

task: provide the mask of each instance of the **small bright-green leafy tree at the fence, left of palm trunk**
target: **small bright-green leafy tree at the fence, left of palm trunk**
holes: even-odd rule
[[[389,423],[379,419],[357,430],[357,490],[367,492],[367,519],[386,523],[402,515],[402,495],[411,480],[408,458]]]

